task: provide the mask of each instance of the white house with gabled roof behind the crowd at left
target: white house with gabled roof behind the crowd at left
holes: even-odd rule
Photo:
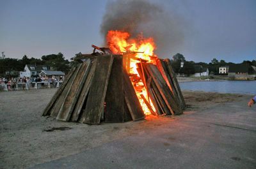
[[[48,70],[45,65],[26,64],[24,71],[20,71],[20,77],[33,77],[39,75],[42,70]]]

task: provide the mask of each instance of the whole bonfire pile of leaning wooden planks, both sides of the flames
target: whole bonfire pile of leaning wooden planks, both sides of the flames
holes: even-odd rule
[[[65,77],[45,108],[43,115],[60,121],[100,124],[100,122],[138,121],[145,118],[132,75],[127,73],[124,55],[83,55]],[[141,94],[152,115],[182,114],[184,98],[169,59],[157,64],[137,63],[148,97]]]

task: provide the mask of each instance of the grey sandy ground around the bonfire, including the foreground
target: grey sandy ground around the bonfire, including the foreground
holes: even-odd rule
[[[70,162],[68,163],[70,166],[66,164],[67,168],[81,166],[84,168],[141,168],[142,166],[136,165],[134,161],[131,161],[134,166],[125,166],[122,159],[112,160],[115,163],[111,162],[111,165],[108,165],[107,159],[102,159],[99,164],[106,163],[104,167],[99,167],[93,162],[90,164],[95,166],[83,164],[95,160],[95,158],[90,159],[93,153],[95,156],[98,151],[104,154],[102,151],[104,146],[109,149],[129,139],[129,143],[143,139],[141,142],[145,143],[145,149],[152,146],[156,149],[155,153],[161,152],[164,147],[164,153],[170,152],[179,156],[180,160],[173,163],[172,161],[177,157],[166,155],[166,157],[170,156],[168,158],[170,164],[166,163],[166,166],[175,165],[177,168],[184,168],[188,165],[185,163],[186,160],[192,160],[186,156],[193,153],[197,155],[193,157],[194,162],[190,163],[190,168],[199,167],[196,161],[201,161],[200,167],[203,168],[219,166],[221,168],[253,168],[256,166],[256,106],[253,108],[246,106],[247,101],[252,97],[250,95],[182,91],[188,105],[183,115],[148,116],[142,121],[90,126],[42,117],[42,111],[54,92],[56,89],[0,92],[0,168],[64,168],[61,166],[63,161],[74,158],[78,160],[76,165]],[[147,140],[144,140],[146,138]],[[156,139],[152,140],[152,138]],[[151,142],[148,142],[148,139]],[[156,144],[150,145],[152,142]],[[214,144],[211,144],[213,142]],[[146,146],[147,143],[148,146]],[[128,144],[125,143],[125,146]],[[132,146],[129,146],[132,151]],[[183,154],[183,151],[188,151],[188,154]],[[116,154],[124,153],[122,156],[125,157],[125,152],[127,151],[118,151]],[[212,153],[217,154],[215,156]],[[147,152],[144,155],[145,159],[152,158],[147,155]],[[80,156],[88,156],[88,161],[83,159],[79,161]],[[217,156],[220,159],[214,159]],[[163,157],[159,158],[163,160]],[[219,164],[209,163],[209,161],[218,160]],[[154,164],[149,165],[148,168],[158,166],[156,161],[152,160],[152,163]],[[166,166],[160,165],[159,162],[159,168]],[[147,168],[147,165],[145,167]]]

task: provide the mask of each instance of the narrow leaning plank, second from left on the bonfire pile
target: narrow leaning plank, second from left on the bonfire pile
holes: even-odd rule
[[[60,97],[56,100],[56,103],[54,104],[54,107],[51,109],[51,116],[57,117],[58,113],[60,112],[60,108],[62,106],[63,101],[67,97],[67,92],[70,90],[70,87],[74,83],[74,79],[77,76],[78,71],[80,70],[82,64],[77,64],[76,71],[72,74],[72,77],[70,77],[70,80],[68,80],[68,84],[63,89],[63,92],[61,93]]]

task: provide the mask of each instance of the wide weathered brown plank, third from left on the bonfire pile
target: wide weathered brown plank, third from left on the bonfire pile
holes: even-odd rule
[[[57,120],[59,121],[70,120],[70,117],[76,105],[77,98],[79,97],[79,94],[83,88],[84,81],[86,80],[86,77],[88,75],[90,66],[91,66],[91,60],[86,59],[86,61],[83,62],[81,69],[77,73],[77,76],[74,79],[74,83],[71,85],[70,89],[67,92],[67,96],[65,97],[65,100],[61,105],[60,112],[56,117]]]

